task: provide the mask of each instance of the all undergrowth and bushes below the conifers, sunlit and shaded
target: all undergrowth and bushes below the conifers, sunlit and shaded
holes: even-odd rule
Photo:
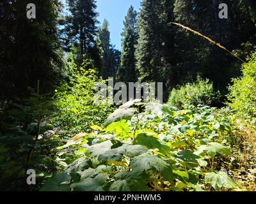
[[[71,61],[72,75],[54,96],[40,95],[38,82],[30,98],[1,105],[1,190],[256,190],[254,95],[246,95],[255,89],[255,55],[230,85],[225,108],[206,106],[202,90],[216,96],[206,80],[173,91],[167,105],[137,99],[113,112],[109,101],[94,103],[104,81],[88,66]],[[175,92],[191,87],[195,100],[173,106]],[[36,171],[34,186],[28,169]]]

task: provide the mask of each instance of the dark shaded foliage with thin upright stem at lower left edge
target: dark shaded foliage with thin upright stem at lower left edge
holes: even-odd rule
[[[31,190],[38,190],[47,171],[54,170],[56,140],[48,140],[54,135],[54,126],[49,124],[47,116],[52,112],[49,96],[40,95],[39,82],[37,92],[31,96],[12,101],[10,109],[4,110],[0,117],[0,189],[2,191],[20,191],[27,187],[26,171],[34,169],[38,184]],[[54,146],[55,145],[55,146]]]

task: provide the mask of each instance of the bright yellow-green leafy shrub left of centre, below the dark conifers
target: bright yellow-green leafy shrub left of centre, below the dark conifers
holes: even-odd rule
[[[90,66],[88,60],[77,66],[71,54],[69,82],[61,85],[54,96],[56,112],[52,121],[55,126],[86,131],[93,124],[103,122],[111,112],[111,103],[107,99],[95,103],[95,87],[106,81],[100,80]]]

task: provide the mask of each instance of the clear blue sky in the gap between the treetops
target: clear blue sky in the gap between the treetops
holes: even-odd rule
[[[65,0],[61,0],[65,2]],[[136,11],[140,10],[141,0],[97,0],[98,20],[100,23],[106,18],[109,22],[111,44],[121,50],[121,33],[123,20],[128,8],[132,5]]]

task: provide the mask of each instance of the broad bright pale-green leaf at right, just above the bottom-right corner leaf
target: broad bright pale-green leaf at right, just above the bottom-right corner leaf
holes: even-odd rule
[[[204,154],[207,153],[208,156],[214,157],[217,152],[219,154],[231,154],[227,147],[216,142],[211,142],[207,145],[201,145],[198,150],[195,151],[195,154],[198,156],[204,156]]]

